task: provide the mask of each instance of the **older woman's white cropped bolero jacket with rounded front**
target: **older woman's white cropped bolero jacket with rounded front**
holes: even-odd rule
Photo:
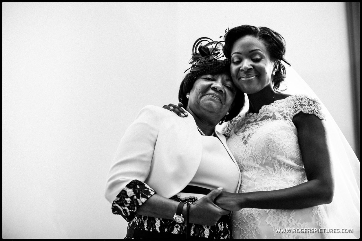
[[[226,138],[216,130],[215,134],[238,166]],[[121,139],[109,170],[105,197],[113,203],[121,190],[137,179],[157,194],[171,198],[190,183],[201,157],[201,135],[191,114],[181,118],[161,107],[145,106]],[[240,183],[241,175],[236,190]]]

